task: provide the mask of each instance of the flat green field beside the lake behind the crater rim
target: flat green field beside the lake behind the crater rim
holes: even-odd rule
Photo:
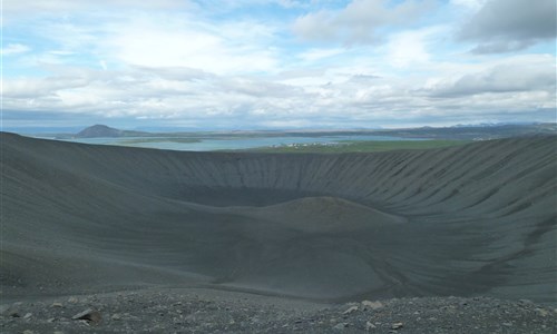
[[[428,149],[441,148],[471,143],[470,140],[392,140],[392,141],[342,141],[339,144],[305,144],[292,146],[275,146],[247,149],[243,151],[257,153],[372,153],[395,149]]]

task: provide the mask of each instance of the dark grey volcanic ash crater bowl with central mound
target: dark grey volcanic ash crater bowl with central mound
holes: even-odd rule
[[[346,155],[1,140],[4,297],[203,285],[555,303],[556,137]]]

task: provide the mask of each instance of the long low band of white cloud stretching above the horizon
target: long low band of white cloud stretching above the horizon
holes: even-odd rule
[[[541,115],[548,117],[556,98],[555,80],[547,75],[548,69],[555,70],[551,62],[555,57],[524,56],[480,65],[452,63],[437,78],[409,75],[403,80],[356,75],[358,68],[349,67],[290,79],[216,76],[188,68],[58,68],[52,70],[59,75],[40,80],[6,80],[4,108],[201,126],[455,124],[488,116],[526,117],[536,110],[547,110]]]

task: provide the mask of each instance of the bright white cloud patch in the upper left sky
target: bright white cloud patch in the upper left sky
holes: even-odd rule
[[[187,67],[217,73],[272,71],[277,65],[272,26],[255,21],[215,26],[187,13],[150,13],[95,26],[46,23],[42,33],[63,50],[88,50],[96,63]]]

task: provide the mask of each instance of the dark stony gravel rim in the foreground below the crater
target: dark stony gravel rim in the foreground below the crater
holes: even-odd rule
[[[423,297],[315,304],[208,289],[144,289],[16,302],[1,333],[557,333],[529,301]],[[81,320],[76,318],[82,314]]]

